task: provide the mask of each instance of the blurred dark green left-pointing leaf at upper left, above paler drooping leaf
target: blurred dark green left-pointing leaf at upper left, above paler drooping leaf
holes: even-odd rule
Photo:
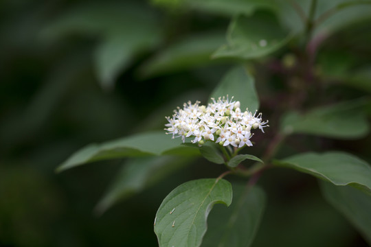
[[[138,14],[141,13],[141,14]],[[135,26],[133,26],[135,21]],[[137,26],[155,25],[156,15],[145,5],[126,3],[89,3],[75,5],[57,16],[55,21],[47,23],[41,37],[47,40],[61,38],[67,34],[106,36],[128,33],[137,30]]]

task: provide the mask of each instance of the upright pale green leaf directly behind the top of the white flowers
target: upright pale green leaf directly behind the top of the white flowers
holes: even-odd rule
[[[249,108],[250,111],[255,111],[259,108],[254,78],[243,67],[228,71],[210,97],[218,99],[227,95],[229,99],[234,96],[234,100],[240,101],[241,109]]]

